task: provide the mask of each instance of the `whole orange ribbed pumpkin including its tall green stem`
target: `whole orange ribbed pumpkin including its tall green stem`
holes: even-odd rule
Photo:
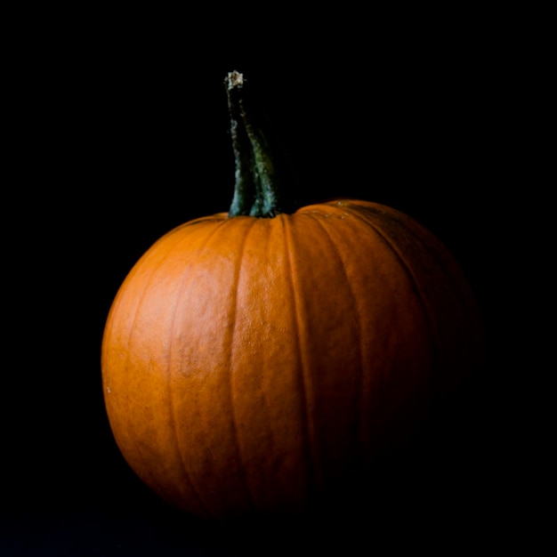
[[[101,350],[127,463],[170,504],[221,519],[305,508],[404,442],[482,346],[462,270],[408,215],[351,198],[280,209],[246,90],[229,74],[230,212],[143,254]]]

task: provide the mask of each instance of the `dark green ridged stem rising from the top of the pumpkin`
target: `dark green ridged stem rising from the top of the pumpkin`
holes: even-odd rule
[[[262,131],[262,113],[249,95],[246,79],[232,71],[224,81],[230,112],[230,133],[236,183],[229,217],[247,214],[271,218],[284,211],[282,184]]]

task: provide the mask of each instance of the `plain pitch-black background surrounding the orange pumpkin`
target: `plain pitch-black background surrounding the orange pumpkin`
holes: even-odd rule
[[[34,14],[13,38],[0,553],[352,554],[378,539],[443,546],[447,536],[458,547],[513,543],[528,515],[529,474],[518,463],[532,455],[525,415],[534,406],[528,382],[516,403],[517,370],[532,364],[516,343],[529,305],[517,254],[533,257],[527,211],[511,192],[531,196],[535,186],[521,28],[508,31],[501,14],[445,14],[442,24],[424,13],[137,15],[74,14],[67,25],[52,24],[51,13],[44,26]],[[109,431],[104,320],[157,238],[228,209],[223,79],[233,69],[257,89],[287,146],[300,204],[353,196],[411,214],[456,255],[478,296],[488,363],[376,472],[388,486],[403,477],[378,499],[384,512],[371,496],[363,511],[296,524],[199,522],[136,480]],[[254,541],[261,536],[267,545]]]

